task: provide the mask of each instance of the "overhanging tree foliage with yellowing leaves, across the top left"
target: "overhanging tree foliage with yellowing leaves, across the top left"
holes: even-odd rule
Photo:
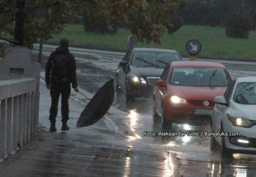
[[[16,0],[0,0],[0,37],[12,41]],[[180,0],[26,0],[24,45],[32,48],[38,39],[48,40],[64,30],[64,24],[89,12],[106,23],[116,18],[127,24],[139,41],[160,43],[166,31],[164,17],[175,14]],[[94,8],[88,8],[93,6]],[[111,28],[109,26],[109,28]]]

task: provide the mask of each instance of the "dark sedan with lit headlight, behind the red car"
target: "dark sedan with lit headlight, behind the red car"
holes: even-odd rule
[[[153,95],[155,83],[170,61],[181,60],[177,51],[154,48],[133,48],[118,65],[116,91],[125,92],[126,101]]]

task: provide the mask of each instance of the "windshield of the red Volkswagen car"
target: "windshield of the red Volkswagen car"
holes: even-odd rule
[[[171,85],[227,87],[230,79],[223,68],[174,67]]]

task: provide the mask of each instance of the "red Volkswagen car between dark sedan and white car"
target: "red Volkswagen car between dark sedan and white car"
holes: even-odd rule
[[[225,66],[208,61],[172,61],[156,82],[153,120],[162,126],[208,119],[213,98],[223,95],[232,78]]]

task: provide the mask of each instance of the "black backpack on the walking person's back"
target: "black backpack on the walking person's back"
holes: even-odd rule
[[[53,75],[59,79],[68,76],[68,59],[64,54],[56,54],[52,65]]]

